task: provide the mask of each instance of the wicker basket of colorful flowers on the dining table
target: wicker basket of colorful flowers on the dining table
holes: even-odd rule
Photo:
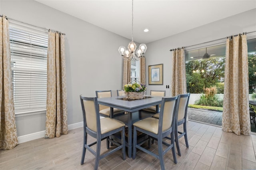
[[[132,83],[130,81],[128,84],[124,85],[125,97],[126,99],[144,99],[146,94],[146,86],[140,83],[139,81],[135,81]]]

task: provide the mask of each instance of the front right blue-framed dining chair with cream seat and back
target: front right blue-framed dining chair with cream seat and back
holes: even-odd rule
[[[161,169],[164,170],[164,154],[166,154],[170,149],[172,149],[172,156],[174,163],[177,164],[177,158],[174,147],[174,129],[175,129],[175,118],[176,118],[176,108],[179,105],[179,98],[168,97],[162,98],[162,109],[160,110],[159,119],[154,117],[148,117],[142,119],[133,124],[133,146],[132,146],[132,158],[136,157],[136,148],[154,156],[160,160]],[[158,141],[158,155],[142,147],[142,143],[137,144],[137,131],[148,134],[150,138],[156,138]],[[163,141],[163,138],[171,134],[170,144]],[[167,140],[169,141],[169,140]],[[163,150],[162,144],[167,147]]]

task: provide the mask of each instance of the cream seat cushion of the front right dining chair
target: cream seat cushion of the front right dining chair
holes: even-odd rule
[[[148,117],[141,121],[135,122],[133,126],[142,128],[154,134],[158,134],[158,122],[159,122],[159,119]]]

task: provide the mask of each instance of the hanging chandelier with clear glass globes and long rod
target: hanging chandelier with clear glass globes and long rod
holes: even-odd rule
[[[123,59],[130,61],[132,58],[139,60],[143,57],[143,54],[147,50],[146,44],[140,44],[139,48],[136,50],[136,44],[133,42],[133,0],[132,0],[132,42],[128,44],[128,49],[124,46],[120,46],[118,51],[122,55]]]

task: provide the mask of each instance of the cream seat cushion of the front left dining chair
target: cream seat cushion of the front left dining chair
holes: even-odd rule
[[[111,130],[114,130],[114,129],[117,129],[117,128],[120,128],[123,126],[125,126],[124,123],[122,123],[118,120],[115,120],[115,119],[111,119],[109,117],[100,119],[100,129],[101,129],[100,133],[101,134],[110,132]]]

